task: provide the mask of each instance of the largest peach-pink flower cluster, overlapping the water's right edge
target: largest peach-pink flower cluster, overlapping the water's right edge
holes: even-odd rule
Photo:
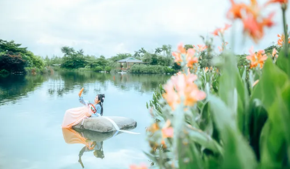
[[[194,81],[197,79],[195,74],[177,74],[172,76],[164,89],[167,93],[167,103],[175,110],[176,105],[181,103],[181,96],[185,98],[184,105],[194,105],[198,100],[206,97],[205,92],[199,91]]]

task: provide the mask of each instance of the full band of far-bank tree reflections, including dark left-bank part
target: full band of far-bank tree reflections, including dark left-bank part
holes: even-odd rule
[[[110,74],[91,71],[57,71],[52,75],[0,75],[0,105],[6,102],[16,103],[47,81],[47,93],[63,97],[75,89],[86,89],[92,84],[95,92],[106,91],[112,84],[119,90],[148,93],[169,78],[170,75],[165,74]],[[88,90],[83,91],[85,95],[87,92]]]

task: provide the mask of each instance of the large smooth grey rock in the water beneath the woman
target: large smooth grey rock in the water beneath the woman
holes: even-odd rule
[[[131,118],[118,117],[118,116],[106,116],[106,117],[112,119],[117,124],[117,126],[122,130],[136,128],[137,126],[137,122]],[[81,126],[81,123],[82,122],[73,126],[72,128],[97,131],[100,133],[110,133],[110,132],[116,131],[113,124],[109,120],[103,117],[86,118],[83,122],[83,126]]]

